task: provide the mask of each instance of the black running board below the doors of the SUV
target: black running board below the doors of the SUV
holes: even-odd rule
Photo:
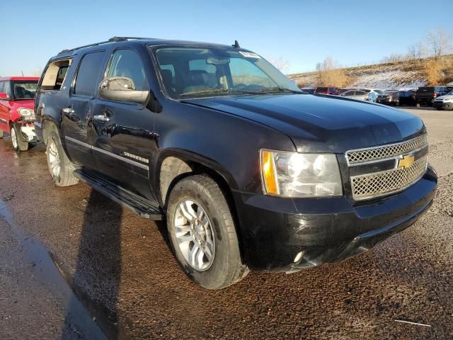
[[[116,203],[125,208],[129,208],[138,215],[149,218],[151,220],[163,220],[164,213],[158,205],[152,203],[150,200],[142,196],[132,193],[131,191],[121,188],[114,183],[103,179],[98,174],[91,171],[76,169],[74,171],[76,176],[81,181],[84,181],[96,191],[99,191],[108,198],[114,200]]]

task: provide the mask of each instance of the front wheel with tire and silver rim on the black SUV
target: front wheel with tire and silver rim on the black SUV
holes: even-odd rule
[[[195,283],[220,289],[247,275],[229,205],[210,177],[176,183],[168,198],[167,228],[176,259]]]

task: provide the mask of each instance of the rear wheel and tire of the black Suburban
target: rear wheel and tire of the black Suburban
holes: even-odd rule
[[[57,131],[52,130],[46,141],[47,166],[57,186],[74,186],[79,179],[74,176],[74,165],[64,152]]]

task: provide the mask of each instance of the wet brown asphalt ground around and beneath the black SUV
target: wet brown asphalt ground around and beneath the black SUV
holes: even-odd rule
[[[0,339],[453,339],[453,112],[408,111],[440,176],[426,215],[357,258],[219,291],[188,280],[165,225],[0,140]]]

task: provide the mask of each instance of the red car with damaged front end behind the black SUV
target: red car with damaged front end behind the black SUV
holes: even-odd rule
[[[13,149],[27,151],[28,143],[37,142],[35,134],[35,92],[38,77],[0,78],[0,138],[11,134]]]

